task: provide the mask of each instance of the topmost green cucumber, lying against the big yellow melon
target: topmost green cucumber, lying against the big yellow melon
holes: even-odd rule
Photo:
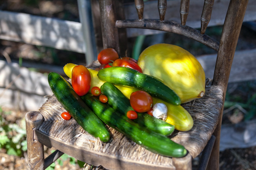
[[[98,72],[98,78],[102,81],[132,86],[147,91],[151,96],[162,99],[173,105],[181,104],[179,96],[161,80],[127,67],[108,67],[101,69]]]

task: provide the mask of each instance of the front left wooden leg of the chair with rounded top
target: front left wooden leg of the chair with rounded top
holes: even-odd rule
[[[28,145],[28,166],[29,169],[44,169],[44,147],[34,140],[33,129],[39,128],[43,122],[43,116],[38,112],[28,112],[26,114],[26,131]]]

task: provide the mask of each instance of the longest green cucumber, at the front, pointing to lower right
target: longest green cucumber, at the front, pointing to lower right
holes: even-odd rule
[[[86,94],[82,99],[104,123],[147,150],[166,157],[183,157],[187,154],[183,146],[131,121],[127,116],[115,111],[109,104],[102,103],[97,97]]]

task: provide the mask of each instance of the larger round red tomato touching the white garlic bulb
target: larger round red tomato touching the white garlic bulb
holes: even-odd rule
[[[153,98],[146,91],[134,91],[130,96],[130,103],[134,111],[143,113],[153,106]]]

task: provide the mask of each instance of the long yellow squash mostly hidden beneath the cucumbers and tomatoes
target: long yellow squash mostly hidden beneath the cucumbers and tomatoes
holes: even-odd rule
[[[71,78],[71,72],[73,67],[76,66],[75,64],[68,63],[63,67],[63,70],[66,75],[70,75]],[[91,88],[94,86],[101,87],[101,85],[105,81],[101,81],[97,74],[98,71],[88,69],[91,73]],[[137,91],[138,89],[132,88],[132,87],[126,87],[126,86],[117,86],[115,85],[119,90],[123,92],[123,94],[130,99],[130,96],[132,92]],[[90,89],[91,90],[91,89]],[[188,131],[193,127],[193,119],[191,115],[187,112],[185,108],[178,105],[172,105],[169,103],[166,103],[165,101],[157,98],[153,98],[153,104],[156,103],[164,103],[167,106],[168,112],[167,112],[167,118],[166,122],[174,125],[174,128],[179,131]]]

